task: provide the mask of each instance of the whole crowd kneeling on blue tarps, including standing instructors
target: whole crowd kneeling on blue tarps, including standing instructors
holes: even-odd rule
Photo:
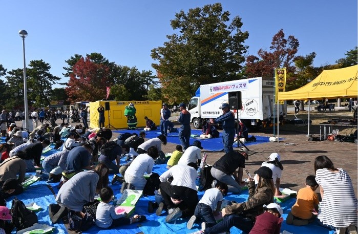
[[[60,182],[56,204],[49,206],[52,223],[59,222],[67,214],[83,217],[86,207],[94,204],[95,225],[100,228],[145,221],[143,215],[130,217],[115,213],[110,183],[122,183],[122,188],[155,195],[155,201],[148,203],[148,211],[155,210],[157,216],[165,214],[165,222],[187,219],[188,229],[200,223],[201,229],[195,233],[223,233],[234,226],[250,234],[280,233],[283,210],[274,202],[274,197],[281,195],[280,178],[284,169],[281,155],[272,152],[267,161],[258,166],[255,176],[251,177],[247,172],[245,179],[243,171],[249,155],[246,150],[234,151],[235,116],[228,104],[223,103],[220,107],[223,114],[207,122],[205,133],[214,136],[217,130],[212,129],[211,124],[222,125],[224,153],[210,168],[213,183],[199,199],[197,178],[198,169],[202,169],[198,165],[201,165],[203,147],[199,140],[189,144],[190,113],[185,103],[180,103],[178,108],[180,144],[165,161],[167,170],[162,175],[154,173],[153,168],[162,163],[158,159],[164,154],[162,145],[166,145],[170,132],[171,111],[165,103],[160,110],[160,135],[152,139],[145,138],[145,131],[156,130],[155,123],[148,117],[145,117],[145,131],[139,135],[120,134],[115,139],[111,130],[103,127],[89,129],[85,122],[74,126],[65,121],[55,126],[43,123],[30,133],[10,123],[3,135],[6,143],[0,144],[0,210],[5,210],[2,206],[9,197],[24,193],[21,183],[25,173],[42,167],[41,179],[48,183]],[[98,108],[98,112],[102,111]],[[43,116],[38,114],[38,118]],[[82,117],[86,117],[85,113]],[[100,122],[104,123],[104,119]],[[133,123],[129,123],[131,129]],[[245,130],[243,125],[241,127],[240,133],[244,136]],[[41,153],[51,142],[56,144],[57,152],[41,162]],[[121,159],[126,162],[121,164]],[[348,173],[334,167],[327,156],[315,158],[313,166],[315,175],[308,176],[306,187],[299,190],[297,202],[287,216],[287,224],[301,226],[318,220],[322,226],[337,233],[356,228],[357,200]],[[109,174],[114,175],[112,181]],[[145,178],[145,174],[151,176]],[[223,204],[228,193],[240,194],[245,186],[249,194],[246,201]],[[322,199],[320,207],[318,195],[314,193],[317,188]],[[100,197],[101,202],[96,202],[95,197]],[[222,216],[221,222],[217,223],[216,215]],[[2,221],[0,228],[8,230]]]

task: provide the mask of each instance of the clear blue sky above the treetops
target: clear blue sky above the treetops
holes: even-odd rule
[[[5,0],[0,14],[0,64],[8,71],[23,68],[18,31],[25,29],[27,65],[43,59],[61,82],[68,80],[62,75],[65,60],[76,53],[98,52],[117,65],[155,74],[151,50],[163,46],[165,36],[174,33],[170,20],[175,13],[216,2]],[[249,32],[248,55],[268,49],[280,29],[286,37],[299,40],[298,55],[317,53],[314,66],[333,64],[357,45],[357,1],[223,0],[221,4],[230,18],[242,18],[242,30]]]

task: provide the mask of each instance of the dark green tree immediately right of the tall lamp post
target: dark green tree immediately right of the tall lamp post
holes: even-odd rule
[[[60,80],[59,77],[50,73],[51,66],[44,60],[30,61],[27,75],[29,76],[28,84],[28,98],[34,101],[34,107],[47,106],[50,101],[49,97],[52,91],[52,84]]]

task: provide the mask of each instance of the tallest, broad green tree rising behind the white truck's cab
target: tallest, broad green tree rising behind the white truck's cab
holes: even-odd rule
[[[186,102],[200,84],[240,78],[248,32],[241,31],[240,17],[230,23],[229,16],[220,3],[175,14],[171,27],[176,33],[151,54],[158,61],[152,67],[161,74],[164,98]]]

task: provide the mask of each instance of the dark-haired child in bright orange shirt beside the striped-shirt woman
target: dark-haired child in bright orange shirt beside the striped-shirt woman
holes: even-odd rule
[[[307,225],[313,222],[315,215],[312,214],[313,209],[318,210],[318,196],[314,191],[318,188],[315,176],[307,176],[306,187],[301,188],[297,193],[297,201],[289,212],[286,223],[295,226]]]

